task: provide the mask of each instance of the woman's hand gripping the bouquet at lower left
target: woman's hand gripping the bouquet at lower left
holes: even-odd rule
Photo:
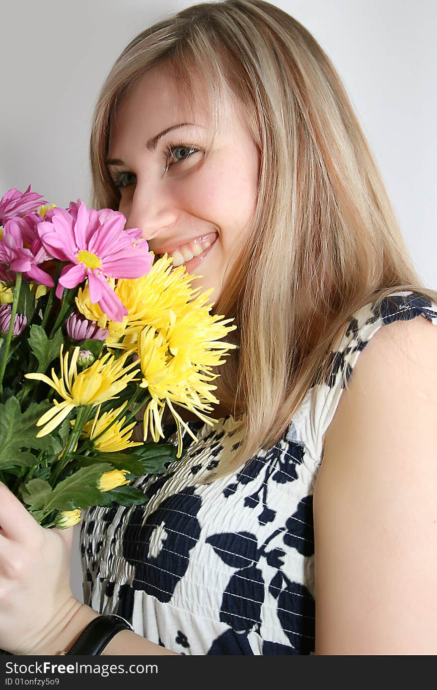
[[[54,653],[81,608],[70,589],[72,533],[41,527],[0,482],[0,649]]]

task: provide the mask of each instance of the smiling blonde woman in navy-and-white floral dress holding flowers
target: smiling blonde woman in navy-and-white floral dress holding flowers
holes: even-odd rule
[[[437,653],[437,293],[327,55],[269,3],[188,8],[119,57],[90,153],[95,206],[202,276],[239,348],[148,504],[88,512],[86,604],[70,531],[0,487],[0,647]],[[111,613],[135,632],[106,644]]]

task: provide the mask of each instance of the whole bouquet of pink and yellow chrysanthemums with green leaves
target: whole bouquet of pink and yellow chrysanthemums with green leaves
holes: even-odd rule
[[[182,426],[196,440],[175,406],[213,426],[211,368],[236,326],[122,213],[45,204],[30,186],[0,199],[0,480],[64,528],[89,506],[148,500],[130,480],[182,457]],[[166,406],[177,449],[157,443]]]

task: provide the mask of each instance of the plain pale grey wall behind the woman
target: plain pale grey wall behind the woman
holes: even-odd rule
[[[57,206],[90,203],[95,99],[135,34],[193,2],[16,0],[1,10],[0,197],[11,187]],[[407,247],[437,289],[437,3],[278,0],[340,73],[382,172]],[[72,588],[81,599],[78,529]]]

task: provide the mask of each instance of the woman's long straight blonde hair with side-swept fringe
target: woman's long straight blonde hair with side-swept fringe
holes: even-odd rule
[[[420,282],[340,77],[298,21],[262,0],[201,3],[129,43],[95,108],[90,160],[96,208],[118,208],[104,160],[117,101],[153,66],[168,68],[192,107],[202,75],[213,131],[237,99],[260,150],[248,242],[213,312],[235,317],[239,349],[217,368],[215,395],[244,433],[215,478],[273,446],[351,315],[398,290],[437,302]],[[332,364],[332,363],[331,363]],[[211,481],[211,475],[208,475]]]

